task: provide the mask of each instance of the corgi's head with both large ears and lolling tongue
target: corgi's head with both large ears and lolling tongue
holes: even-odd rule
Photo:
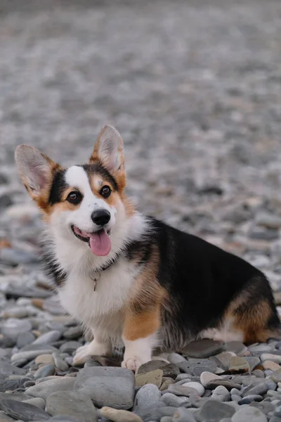
[[[23,184],[41,208],[53,233],[94,255],[110,253],[111,234],[119,236],[133,213],[124,197],[123,141],[114,127],[100,131],[86,165],[63,168],[27,145],[15,151]],[[115,248],[116,249],[116,248]]]

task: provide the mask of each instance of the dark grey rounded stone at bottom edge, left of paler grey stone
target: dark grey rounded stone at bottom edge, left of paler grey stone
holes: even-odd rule
[[[229,404],[208,399],[198,412],[197,419],[199,422],[220,422],[222,418],[230,418],[233,414],[235,414],[235,409]],[[242,421],[243,419],[240,420]]]

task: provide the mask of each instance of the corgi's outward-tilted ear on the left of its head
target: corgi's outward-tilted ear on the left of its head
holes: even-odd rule
[[[28,193],[32,199],[40,203],[40,198],[46,195],[52,176],[59,165],[33,146],[24,144],[15,148],[15,162]]]

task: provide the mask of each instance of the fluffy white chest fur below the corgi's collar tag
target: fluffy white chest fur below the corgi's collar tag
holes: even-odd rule
[[[67,312],[84,325],[112,331],[114,335],[122,329],[122,308],[128,300],[135,276],[135,267],[125,259],[119,259],[112,267],[102,271],[96,288],[90,276],[72,271],[60,289],[60,301]]]

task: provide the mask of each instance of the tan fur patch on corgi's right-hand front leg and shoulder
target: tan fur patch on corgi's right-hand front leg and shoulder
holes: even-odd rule
[[[154,246],[150,260],[136,280],[131,300],[126,307],[123,331],[126,340],[148,337],[161,326],[161,306],[166,291],[156,279],[158,262],[159,253]]]

